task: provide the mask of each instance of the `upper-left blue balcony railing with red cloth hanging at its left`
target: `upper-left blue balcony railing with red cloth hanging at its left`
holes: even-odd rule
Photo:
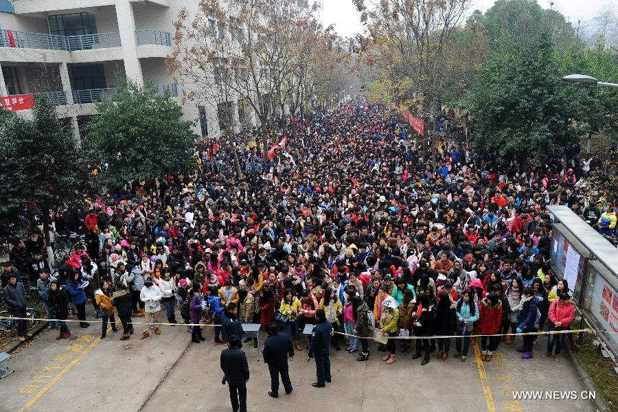
[[[120,47],[119,33],[82,34],[81,36],[57,36],[56,34],[16,32],[0,30],[0,47],[23,47],[25,49],[74,50]]]

